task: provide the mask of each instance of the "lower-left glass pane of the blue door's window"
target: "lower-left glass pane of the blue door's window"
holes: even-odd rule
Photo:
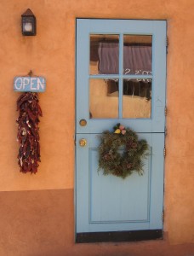
[[[90,79],[90,119],[116,119],[118,117],[118,79]]]

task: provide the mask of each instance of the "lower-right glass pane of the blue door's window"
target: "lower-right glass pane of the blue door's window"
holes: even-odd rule
[[[123,118],[151,118],[151,79],[123,80]]]

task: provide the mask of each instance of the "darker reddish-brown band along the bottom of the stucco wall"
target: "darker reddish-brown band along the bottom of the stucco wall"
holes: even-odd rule
[[[192,256],[166,240],[75,244],[73,189],[0,193],[1,256]],[[6,228],[5,228],[6,227]]]

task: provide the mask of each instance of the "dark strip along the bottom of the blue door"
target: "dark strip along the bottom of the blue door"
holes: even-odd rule
[[[163,230],[132,230],[112,232],[77,233],[77,243],[109,241],[146,241],[163,239]]]

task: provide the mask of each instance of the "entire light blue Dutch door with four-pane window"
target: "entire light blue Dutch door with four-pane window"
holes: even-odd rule
[[[77,241],[163,230],[165,83],[166,21],[77,19]],[[100,134],[117,123],[149,144],[143,176],[98,172]]]

